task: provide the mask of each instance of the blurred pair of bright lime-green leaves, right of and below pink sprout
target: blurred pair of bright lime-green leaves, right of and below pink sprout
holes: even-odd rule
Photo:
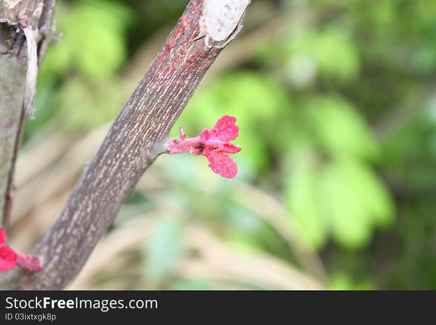
[[[343,247],[361,248],[374,226],[393,220],[393,202],[374,172],[354,158],[322,162],[310,147],[290,160],[285,197],[303,237],[322,247],[327,237]]]

